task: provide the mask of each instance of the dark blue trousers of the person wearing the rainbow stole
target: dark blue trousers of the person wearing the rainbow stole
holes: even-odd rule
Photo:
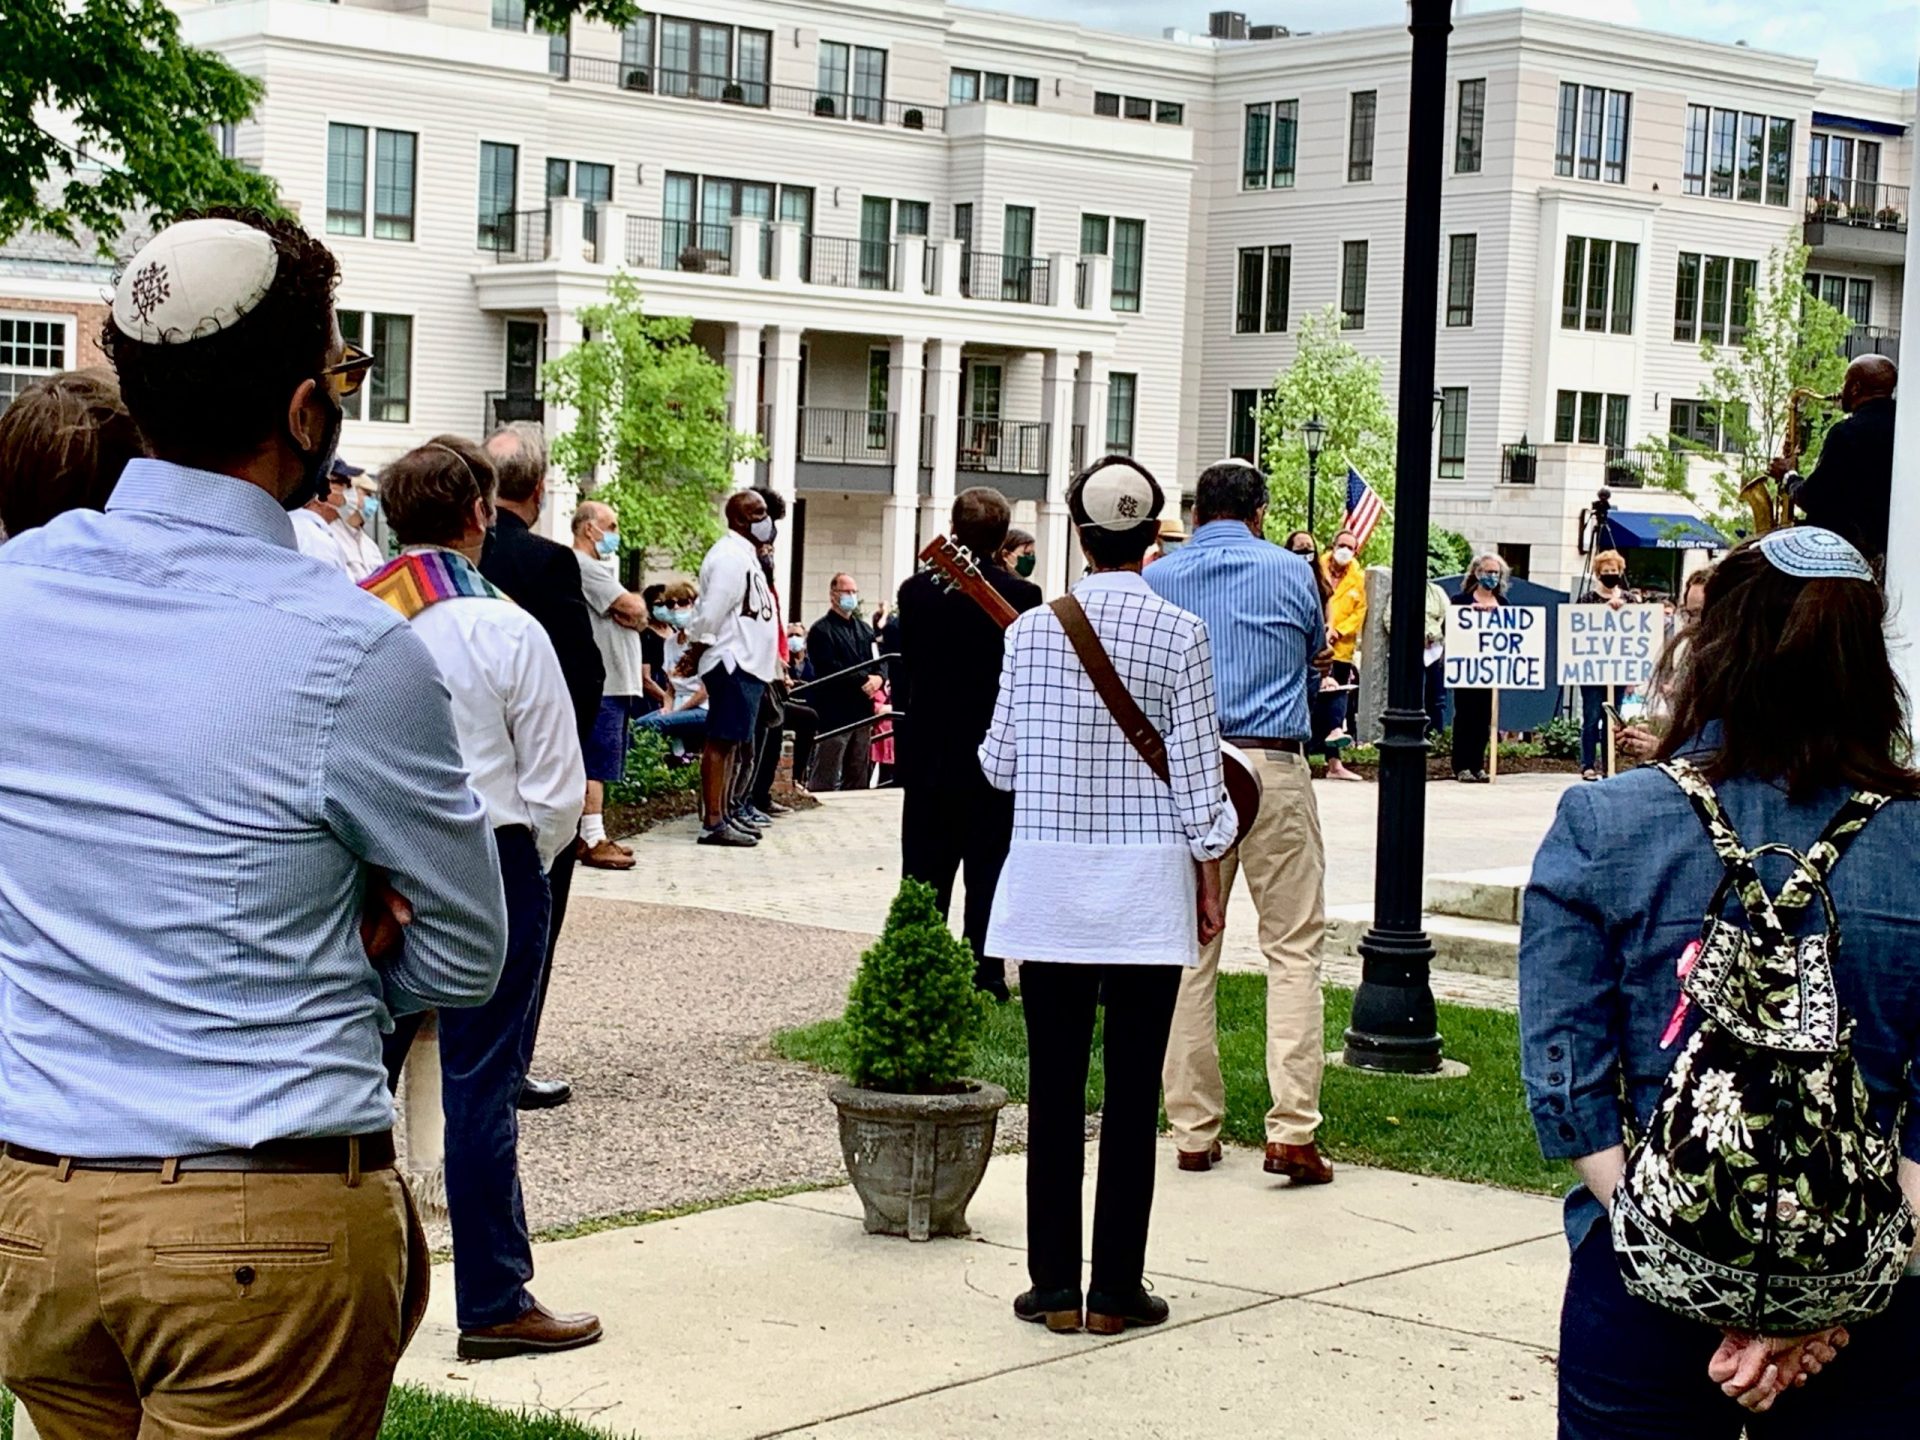
[[[520,1204],[520,1087],[534,1050],[534,1006],[547,968],[547,876],[524,826],[493,831],[507,889],[507,964],[486,1004],[440,1012],[440,1108],[447,1119],[447,1219],[453,1311],[463,1331],[507,1325],[534,1304],[534,1246]],[[386,1037],[386,1073],[420,1027],[405,1016]]]

